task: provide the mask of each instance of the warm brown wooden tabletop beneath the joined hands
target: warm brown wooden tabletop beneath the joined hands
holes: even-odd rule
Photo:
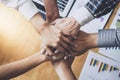
[[[0,4],[0,65],[22,59],[39,50],[40,36],[33,25],[15,10]],[[94,50],[97,51],[97,49]],[[86,57],[87,52],[76,57],[72,64],[77,78]],[[59,80],[59,77],[51,63],[46,62],[12,80]]]

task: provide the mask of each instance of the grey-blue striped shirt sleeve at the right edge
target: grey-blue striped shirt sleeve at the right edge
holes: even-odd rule
[[[98,47],[120,47],[120,29],[99,30]]]

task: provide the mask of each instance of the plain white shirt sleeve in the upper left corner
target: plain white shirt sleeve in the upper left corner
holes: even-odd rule
[[[15,8],[30,20],[39,10],[32,0],[0,0],[1,3],[8,7]]]

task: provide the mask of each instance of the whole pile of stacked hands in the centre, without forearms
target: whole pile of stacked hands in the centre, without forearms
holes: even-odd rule
[[[45,54],[58,60],[75,57],[97,46],[96,34],[79,30],[80,25],[74,18],[57,19],[51,24],[44,24],[40,31]],[[71,62],[71,61],[70,61]]]

